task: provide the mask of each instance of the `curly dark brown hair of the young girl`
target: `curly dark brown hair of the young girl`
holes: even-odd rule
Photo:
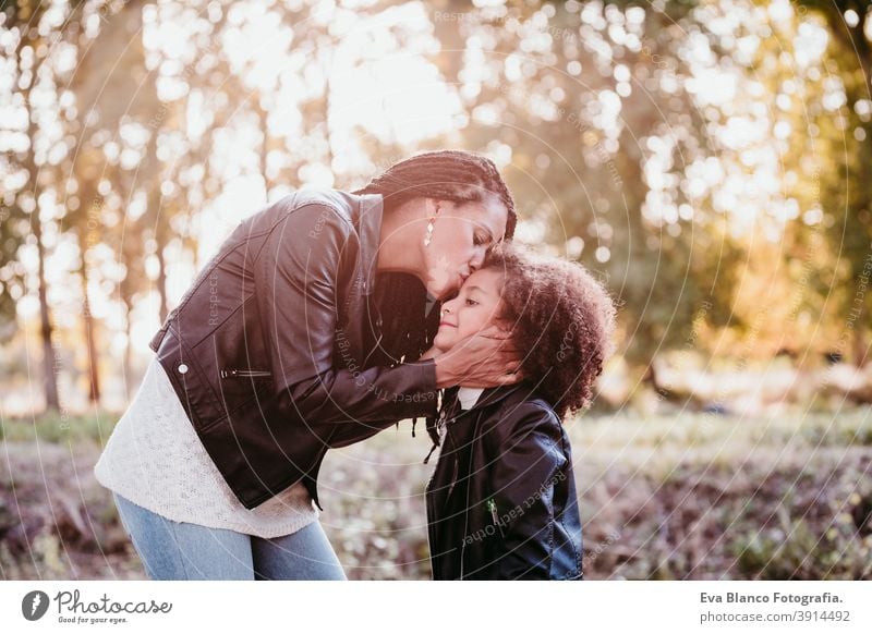
[[[499,318],[525,353],[526,380],[561,419],[588,409],[614,351],[616,310],[605,288],[577,261],[510,243],[495,247],[482,268],[504,273]]]

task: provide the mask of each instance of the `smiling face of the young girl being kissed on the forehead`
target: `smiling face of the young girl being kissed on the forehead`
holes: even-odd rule
[[[433,346],[446,352],[461,339],[497,324],[501,308],[501,285],[502,273],[496,269],[472,273],[463,282],[458,296],[443,304],[439,330]]]

